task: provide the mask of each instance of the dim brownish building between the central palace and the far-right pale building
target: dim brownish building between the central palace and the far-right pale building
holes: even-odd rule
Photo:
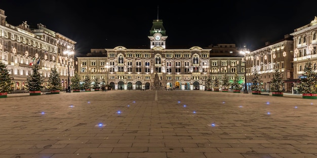
[[[284,89],[291,91],[293,79],[293,36],[285,35],[284,39],[273,43],[266,42],[265,46],[246,54],[247,85],[251,86],[251,76],[257,71],[262,80],[263,91],[270,91],[273,72],[282,72]]]

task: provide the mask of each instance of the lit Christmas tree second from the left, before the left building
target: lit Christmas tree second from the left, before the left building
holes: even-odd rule
[[[26,79],[26,88],[29,91],[39,91],[43,88],[44,77],[38,72],[38,64],[32,66],[32,74]]]

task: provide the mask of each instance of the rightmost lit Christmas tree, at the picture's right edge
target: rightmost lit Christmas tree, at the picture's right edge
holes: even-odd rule
[[[317,74],[313,72],[310,58],[305,63],[304,74],[300,78],[298,90],[302,93],[317,93],[316,81]]]

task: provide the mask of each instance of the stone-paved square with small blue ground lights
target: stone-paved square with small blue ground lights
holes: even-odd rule
[[[290,96],[199,90],[8,94],[0,98],[0,157],[317,157],[317,100]]]

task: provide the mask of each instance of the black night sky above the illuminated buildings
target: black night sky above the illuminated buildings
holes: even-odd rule
[[[309,24],[317,1],[12,1],[2,0],[7,22],[42,23],[77,43],[76,56],[91,48],[148,46],[152,21],[163,20],[167,48],[234,43],[250,50]],[[157,9],[157,7],[159,7]],[[158,10],[158,12],[157,12]]]

